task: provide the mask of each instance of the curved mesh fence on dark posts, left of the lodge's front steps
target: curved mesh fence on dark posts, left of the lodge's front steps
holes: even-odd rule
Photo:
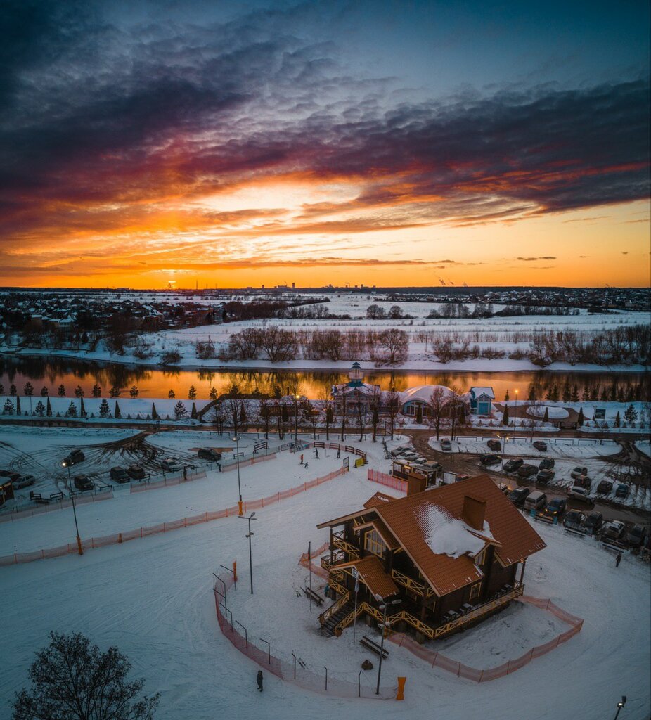
[[[307,554],[306,556],[307,557]],[[228,608],[228,591],[235,585],[233,575],[223,577],[215,575],[215,582],[212,591],[215,593],[215,612],[217,622],[223,636],[238,649],[243,655],[250,658],[262,670],[267,670],[284,680],[286,683],[298,685],[305,690],[312,690],[314,693],[335,696],[339,698],[367,698],[377,700],[392,700],[395,698],[397,686],[380,686],[380,693],[375,694],[376,675],[369,674],[365,670],[359,672],[346,672],[326,668],[325,666],[313,666],[297,654],[295,650],[286,658],[277,657],[271,652],[271,645],[259,637],[264,633],[259,629],[251,631],[238,623],[233,618],[233,612]],[[235,589],[235,592],[237,590]],[[233,603],[233,593],[230,593],[230,603]],[[236,629],[235,626],[239,629]],[[243,631],[243,632],[242,632]],[[265,643],[264,647],[258,647],[253,640]],[[309,638],[306,636],[306,640]],[[326,670],[326,672],[323,672]]]

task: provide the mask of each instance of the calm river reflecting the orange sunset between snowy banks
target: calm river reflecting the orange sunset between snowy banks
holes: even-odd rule
[[[15,358],[0,356],[0,384],[4,385],[4,393],[9,393],[15,385],[20,394],[24,384],[29,381],[34,386],[35,395],[39,395],[42,387],[47,387],[50,395],[57,395],[60,384],[66,389],[66,395],[72,396],[77,385],[81,385],[86,395],[91,395],[95,383],[102,387],[102,395],[109,395],[109,388],[114,385],[122,388],[122,395],[135,385],[140,397],[167,397],[174,390],[176,397],[187,397],[189,387],[194,385],[199,399],[207,399],[211,387],[218,392],[228,390],[230,384],[238,385],[240,392],[273,393],[274,387],[281,387],[287,392],[298,382],[303,395],[312,399],[325,397],[331,386],[338,382],[346,382],[345,372],[328,372],[305,370],[300,372],[283,371],[201,371],[129,368],[122,365],[97,365],[83,360]],[[645,400],[650,396],[651,377],[642,372],[391,372],[385,369],[367,369],[364,379],[374,382],[382,390],[405,390],[408,387],[422,384],[442,384],[467,391],[472,385],[490,385],[495,391],[497,400],[503,400],[508,390],[511,400],[518,397],[526,400],[531,384],[536,387],[536,397],[544,397],[553,385],[562,393],[565,384],[570,388],[575,385],[580,396],[585,387],[598,392],[614,385],[621,390],[627,399],[637,395],[635,399]],[[637,390],[636,390],[637,386]],[[2,393],[0,392],[0,395]]]

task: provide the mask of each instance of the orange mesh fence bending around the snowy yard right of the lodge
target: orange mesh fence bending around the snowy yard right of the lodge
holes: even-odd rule
[[[503,662],[502,665],[490,667],[486,670],[477,670],[476,667],[464,665],[459,660],[451,660],[440,652],[435,652],[419,645],[416,640],[403,633],[392,634],[389,636],[389,640],[399,647],[405,647],[409,652],[416,655],[416,657],[420,657],[421,660],[430,663],[432,667],[440,667],[441,670],[452,672],[453,675],[457,675],[457,678],[466,678],[467,680],[473,680],[475,683],[487,683],[488,680],[503,678],[505,675],[510,675],[511,672],[516,672],[516,670],[520,670],[521,667],[529,665],[536,657],[542,657],[542,655],[551,652],[560,644],[567,642],[571,637],[578,634],[583,627],[582,618],[570,615],[570,613],[565,612],[565,610],[552,603],[552,600],[531,598],[529,595],[521,595],[519,598],[516,598],[516,600],[521,603],[529,603],[530,605],[536,606],[536,608],[552,613],[552,615],[570,625],[570,629],[557,635],[544,645],[532,647],[531,650],[528,650],[520,657],[516,657],[514,660],[508,660],[508,662]]]

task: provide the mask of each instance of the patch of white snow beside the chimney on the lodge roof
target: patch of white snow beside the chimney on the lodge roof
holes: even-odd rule
[[[416,519],[423,531],[423,538],[429,549],[436,555],[461,557],[482,552],[487,539],[492,540],[490,527],[484,521],[480,537],[473,528],[463,520],[453,518],[445,508],[438,505],[421,505]]]

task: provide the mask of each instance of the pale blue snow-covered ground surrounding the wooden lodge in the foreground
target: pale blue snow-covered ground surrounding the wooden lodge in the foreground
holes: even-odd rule
[[[382,469],[382,445],[367,447],[370,467]],[[292,466],[290,461],[297,463],[295,455],[286,457],[287,464],[279,458],[250,468],[255,473],[247,475],[251,490],[275,482],[270,473],[276,462],[283,474],[305,472]],[[325,457],[310,458],[308,472],[316,477],[329,462]],[[297,477],[289,475],[287,486]],[[256,642],[259,637],[271,639],[274,654],[291,660],[294,651],[317,672],[326,665],[341,677],[356,678],[359,662],[367,653],[359,645],[353,647],[351,629],[338,639],[320,636],[317,612],[313,609],[310,615],[307,600],[295,590],[307,579],[307,570],[297,565],[300,554],[308,541],[316,547],[327,537],[327,531],[318,531],[316,524],[359,508],[377,490],[365,477],[366,468],[352,469],[256,512],[253,595],[248,588],[247,526],[236,517],[94,550],[83,557],[71,555],[1,569],[4,624],[12,630],[0,636],[0,656],[5,660],[0,664],[0,718],[9,717],[6,699],[24,685],[35,650],[46,644],[50,630],[56,630],[81,631],[101,647],[120,647],[133,661],[134,675],[146,678],[146,690],[161,691],[159,720],[215,716],[325,720],[341,714],[382,720],[395,718],[397,712],[400,717],[420,720],[428,707],[449,720],[593,720],[614,715],[622,694],[628,697],[625,717],[647,719],[651,701],[648,567],[624,554],[616,569],[614,558],[592,539],[538,525],[536,531],[547,549],[527,564],[526,593],[552,598],[585,618],[583,630],[566,644],[513,675],[480,685],[433,669],[407,649],[390,647],[382,684],[395,683],[398,675],[407,678],[405,701],[398,708],[392,701],[343,700],[310,693],[269,673],[265,673],[264,693],[258,693],[258,667],[218,629],[212,572],[220,564],[230,566],[238,560],[241,578],[238,590],[229,591],[229,610],[247,627],[250,638]],[[101,518],[102,526],[132,526],[134,521],[143,521],[154,506],[156,517],[162,519],[181,516],[186,507],[221,505],[215,485],[221,481],[228,483],[228,491],[224,490],[230,504],[236,482],[232,472],[218,480],[209,477],[99,503],[102,513],[107,513]],[[99,505],[80,516],[80,525],[97,522]],[[86,510],[80,508],[80,513]],[[70,510],[56,514],[72,523]],[[6,525],[19,534],[14,537],[27,541],[53,517]],[[50,526],[44,527],[48,536]],[[58,533],[55,526],[51,533]],[[12,539],[5,538],[4,546],[7,542]],[[449,639],[441,648],[475,667],[499,665],[555,634],[556,622],[536,608],[514,605]],[[366,682],[374,678],[371,671]]]

